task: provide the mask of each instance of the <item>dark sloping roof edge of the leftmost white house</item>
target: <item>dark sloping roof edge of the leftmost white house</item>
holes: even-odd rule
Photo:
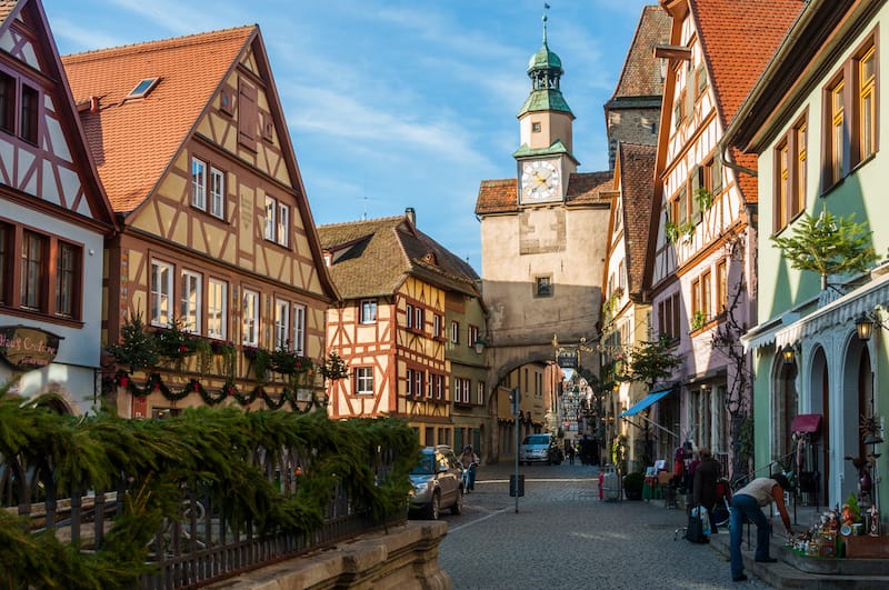
[[[56,40],[43,11],[40,0],[0,0],[0,34],[6,33],[11,23],[20,18],[30,27],[29,36],[34,37],[34,46],[40,62],[41,73],[54,82],[53,98],[59,111],[60,124],[64,133],[63,141],[71,151],[72,161],[78,164],[80,180],[83,183],[84,196],[90,204],[92,221],[101,223],[101,231],[111,234],[118,229],[108,194],[99,182],[96,162],[87,146],[84,130],[80,124],[71,88],[62,67]],[[7,51],[11,51],[7,49]]]

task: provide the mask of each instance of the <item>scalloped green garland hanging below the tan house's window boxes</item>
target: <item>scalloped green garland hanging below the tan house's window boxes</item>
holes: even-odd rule
[[[192,378],[184,386],[182,386],[182,389],[174,391],[163,382],[160,373],[149,373],[144,384],[140,387],[130,378],[130,373],[123,369],[117,372],[116,382],[118,387],[126,389],[130,394],[137,398],[146,398],[151,393],[158,392],[170,401],[179,401],[186,399],[192,393],[198,393],[207,406],[219,406],[226,400],[226,398],[231,397],[234,398],[238,403],[244,407],[250,406],[257,399],[261,399],[266,402],[270,410],[279,410],[286,402],[289,402],[290,409],[300,413],[309,412],[316,408],[322,407],[322,404],[314,399],[314,396],[312,396],[311,399],[303,402],[306,403],[306,408],[301,409],[299,403],[297,403],[297,390],[291,389],[288,386],[283,386],[281,396],[274,398],[268,391],[266,391],[266,388],[262,386],[256,386],[249,392],[241,393],[237,383],[234,383],[232,380],[226,381],[222,388],[217,391],[208,391],[198,379]]]

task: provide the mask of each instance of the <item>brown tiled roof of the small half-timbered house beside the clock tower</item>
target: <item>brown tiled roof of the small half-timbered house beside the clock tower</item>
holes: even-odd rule
[[[409,276],[442,289],[479,297],[479,276],[404,216],[319,226],[328,268],[343,299],[387,297]]]

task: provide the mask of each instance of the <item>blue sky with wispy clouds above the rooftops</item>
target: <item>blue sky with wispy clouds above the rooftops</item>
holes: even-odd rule
[[[580,171],[608,168],[603,104],[641,0],[549,0]],[[317,224],[417,211],[479,274],[479,183],[515,178],[541,47],[531,0],[44,0],[62,54],[258,23]]]

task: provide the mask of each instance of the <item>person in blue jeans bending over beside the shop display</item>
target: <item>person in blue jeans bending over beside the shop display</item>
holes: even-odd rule
[[[747,579],[743,573],[743,558],[741,557],[741,528],[747,518],[757,526],[757,550],[753,559],[763,563],[778,561],[769,554],[769,537],[771,526],[762,512],[762,507],[775,502],[781,521],[787,529],[787,534],[793,534],[790,528],[790,516],[785,506],[785,490],[790,486],[787,478],[781,474],[768,478],[757,478],[731,497],[731,521],[729,522],[729,561],[731,562],[731,579],[740,582]]]

